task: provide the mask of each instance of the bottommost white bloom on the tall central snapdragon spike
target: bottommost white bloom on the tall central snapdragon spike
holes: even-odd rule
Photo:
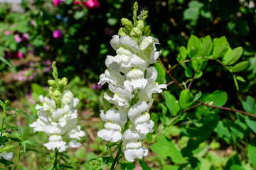
[[[145,135],[142,135],[141,133],[131,129],[128,129],[124,132],[122,141],[124,156],[127,161],[134,162],[134,159],[142,159],[142,157],[146,157],[148,154],[148,149],[143,147],[142,142],[140,141],[144,138]]]

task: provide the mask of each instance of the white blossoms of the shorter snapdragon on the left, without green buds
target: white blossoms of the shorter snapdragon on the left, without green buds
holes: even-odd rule
[[[78,140],[85,136],[85,132],[77,125],[78,111],[75,107],[79,103],[78,98],[74,98],[69,90],[63,91],[60,108],[57,108],[53,99],[42,95],[38,98],[43,106],[36,105],[38,119],[30,127],[34,128],[33,132],[46,132],[49,136],[49,142],[44,146],[53,151],[56,148],[59,152],[64,152],[68,147],[80,147]]]

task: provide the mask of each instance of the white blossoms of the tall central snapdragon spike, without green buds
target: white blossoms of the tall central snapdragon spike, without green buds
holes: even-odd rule
[[[114,103],[118,111],[110,109],[101,111],[100,117],[105,121],[105,129],[97,135],[110,142],[123,141],[124,156],[129,162],[145,157],[148,150],[142,142],[148,132],[153,132],[154,122],[150,120],[149,108],[153,103],[152,94],[161,93],[165,84],[156,82],[157,72],[154,64],[159,57],[155,45],[158,40],[151,36],[142,36],[139,45],[129,35],[114,35],[110,41],[116,50],[116,56],[107,56],[108,67],[100,75],[99,84],[109,84],[113,96],[105,93],[105,99]],[[122,135],[122,128],[129,118],[129,129]]]

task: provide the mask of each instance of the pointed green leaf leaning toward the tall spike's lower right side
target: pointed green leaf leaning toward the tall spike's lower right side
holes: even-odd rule
[[[171,95],[169,91],[164,91],[164,98],[166,101],[166,106],[169,109],[169,112],[172,116],[175,116],[180,111],[181,107],[178,104],[175,96]]]

